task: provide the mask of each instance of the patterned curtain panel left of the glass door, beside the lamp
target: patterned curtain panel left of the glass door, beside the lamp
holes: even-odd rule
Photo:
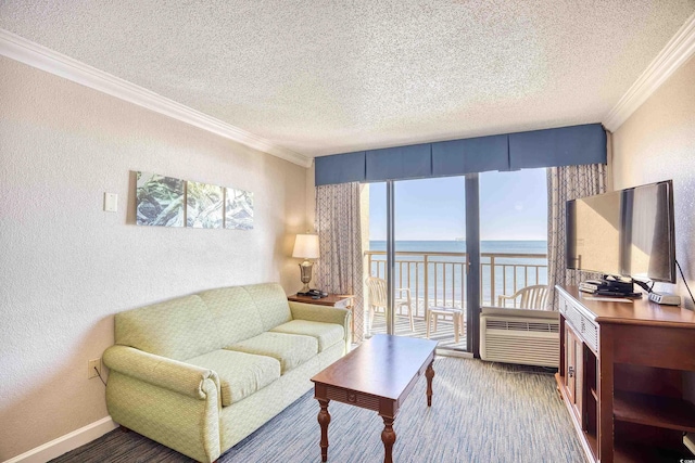
[[[363,340],[363,256],[359,183],[316,187],[319,254],[316,285],[333,294],[352,294],[355,339]]]

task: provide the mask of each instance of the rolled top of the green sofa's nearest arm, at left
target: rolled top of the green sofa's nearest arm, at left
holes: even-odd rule
[[[212,380],[219,390],[219,378],[213,370],[167,359],[128,346],[111,346],[103,361],[111,370],[197,399],[205,399],[205,380]]]

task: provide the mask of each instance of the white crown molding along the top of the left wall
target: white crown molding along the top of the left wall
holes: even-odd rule
[[[177,103],[153,91],[73,60],[62,53],[35,43],[16,34],[0,29],[0,55],[46,70],[85,87],[110,94],[138,106],[154,111],[217,136],[233,140],[254,150],[271,154],[302,167],[309,167],[312,158],[273,143],[199,111]]]

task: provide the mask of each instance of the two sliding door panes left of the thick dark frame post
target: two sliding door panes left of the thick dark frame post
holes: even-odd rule
[[[466,179],[372,183],[366,194],[367,335],[429,337],[442,348],[470,349]]]

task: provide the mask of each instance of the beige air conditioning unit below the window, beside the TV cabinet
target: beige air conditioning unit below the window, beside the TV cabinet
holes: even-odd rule
[[[558,312],[482,309],[480,357],[483,360],[557,368],[559,356]]]

